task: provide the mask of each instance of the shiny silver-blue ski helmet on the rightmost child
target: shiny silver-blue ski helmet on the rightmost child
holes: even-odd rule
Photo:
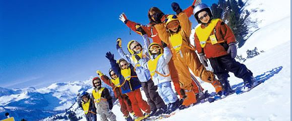
[[[206,4],[198,4],[194,8],[193,13],[194,13],[194,16],[199,24],[202,22],[199,20],[198,14],[202,11],[207,12],[210,18],[213,17],[212,10]]]

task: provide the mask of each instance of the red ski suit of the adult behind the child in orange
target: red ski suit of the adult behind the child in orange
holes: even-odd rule
[[[185,9],[184,12],[187,14],[188,17],[190,17],[191,15],[193,15],[193,10],[194,10],[194,8],[192,6],[190,6],[189,8]],[[136,22],[128,20],[126,25],[130,29],[132,29],[133,31],[136,32],[136,27],[135,26],[137,24],[138,23],[136,23]],[[149,26],[141,26],[141,27],[146,32],[148,37],[152,38],[153,42],[159,43],[161,45],[161,39],[158,36],[158,33],[157,33],[157,31],[156,31],[156,29],[154,27],[154,24],[149,23]],[[169,45],[168,45],[168,47],[170,48]],[[169,72],[170,72],[170,75],[171,75],[171,80],[172,80],[173,85],[174,85],[174,89],[176,89],[176,91],[180,95],[180,97],[183,98],[184,95],[181,94],[181,87],[180,87],[178,72],[177,72],[176,68],[174,67],[174,63],[173,63],[172,59],[169,61],[168,66],[169,66]],[[194,81],[196,81],[196,82],[194,82]],[[193,91],[195,93],[203,91],[204,89],[201,87],[199,82],[197,80],[194,80],[194,81],[192,81]]]

